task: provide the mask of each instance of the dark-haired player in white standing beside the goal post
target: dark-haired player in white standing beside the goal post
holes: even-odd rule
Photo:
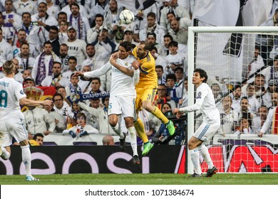
[[[188,141],[189,154],[194,166],[194,173],[191,177],[202,177],[202,170],[200,167],[200,155],[205,159],[208,165],[207,174],[205,177],[211,177],[217,173],[217,168],[212,163],[207,146],[203,144],[204,141],[210,139],[220,128],[220,113],[215,106],[215,99],[212,90],[207,85],[207,72],[200,68],[196,68],[193,73],[192,83],[197,87],[196,102],[192,106],[174,109],[173,113],[180,115],[187,112],[195,112],[200,110],[203,116],[202,125],[195,131],[195,134]]]

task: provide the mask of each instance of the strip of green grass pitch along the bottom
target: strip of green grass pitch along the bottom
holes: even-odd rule
[[[212,178],[188,178],[189,174],[53,174],[0,176],[1,185],[278,185],[278,173],[217,173]]]

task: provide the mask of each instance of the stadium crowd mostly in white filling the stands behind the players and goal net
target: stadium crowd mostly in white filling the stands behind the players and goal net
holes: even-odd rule
[[[134,47],[146,41],[150,46],[158,75],[155,106],[167,116],[175,107],[187,106],[187,29],[192,26],[195,1],[150,3],[133,11],[135,20],[127,25],[119,20],[120,11],[125,9],[120,0],[1,0],[0,66],[12,60],[15,79],[22,82],[29,98],[53,100],[51,106],[24,109],[29,139],[38,133],[75,138],[76,134],[113,132],[108,123],[108,95],[83,102],[71,102],[68,96],[110,92],[111,72],[93,78],[73,74],[101,68],[123,41]],[[276,7],[277,1],[273,1],[274,11],[269,11],[268,23],[262,26],[278,25]],[[270,53],[262,53],[264,47],[269,48],[265,52],[271,52],[274,45],[257,43],[246,74],[248,80],[254,76],[252,82],[230,88],[230,82],[224,79],[209,80],[222,119],[218,134],[278,134],[278,55],[274,53],[269,63],[265,60]],[[269,64],[273,66],[257,72]],[[51,94],[44,92],[42,96],[46,87],[51,87]],[[142,110],[140,118],[156,144],[169,136],[165,125],[149,112]],[[182,134],[176,144],[181,143]]]

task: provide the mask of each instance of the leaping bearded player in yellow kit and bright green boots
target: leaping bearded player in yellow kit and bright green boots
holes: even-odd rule
[[[153,105],[153,99],[158,90],[158,76],[155,72],[155,59],[153,58],[153,55],[150,54],[149,49],[150,45],[148,45],[148,43],[140,41],[139,45],[133,48],[132,52],[138,60],[140,69],[140,80],[138,84],[135,85],[137,95],[135,100],[135,110],[137,114],[141,109],[145,109],[155,115],[155,117],[158,117],[163,124],[166,124],[170,135],[173,135],[175,133],[173,122],[167,119],[158,107]],[[125,68],[120,67],[120,65],[114,65],[114,67],[128,75]],[[134,122],[134,127],[144,142],[142,155],[145,156],[145,154],[148,154],[150,149],[153,148],[153,144],[149,142],[148,136],[145,134],[143,122],[140,118]]]

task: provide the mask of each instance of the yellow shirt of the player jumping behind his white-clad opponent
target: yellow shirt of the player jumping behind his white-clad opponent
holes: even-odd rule
[[[148,52],[145,58],[140,59],[137,56],[137,46],[133,48],[133,55],[140,63],[140,80],[135,87],[138,88],[152,88],[158,87],[158,75],[155,72],[155,58]]]

